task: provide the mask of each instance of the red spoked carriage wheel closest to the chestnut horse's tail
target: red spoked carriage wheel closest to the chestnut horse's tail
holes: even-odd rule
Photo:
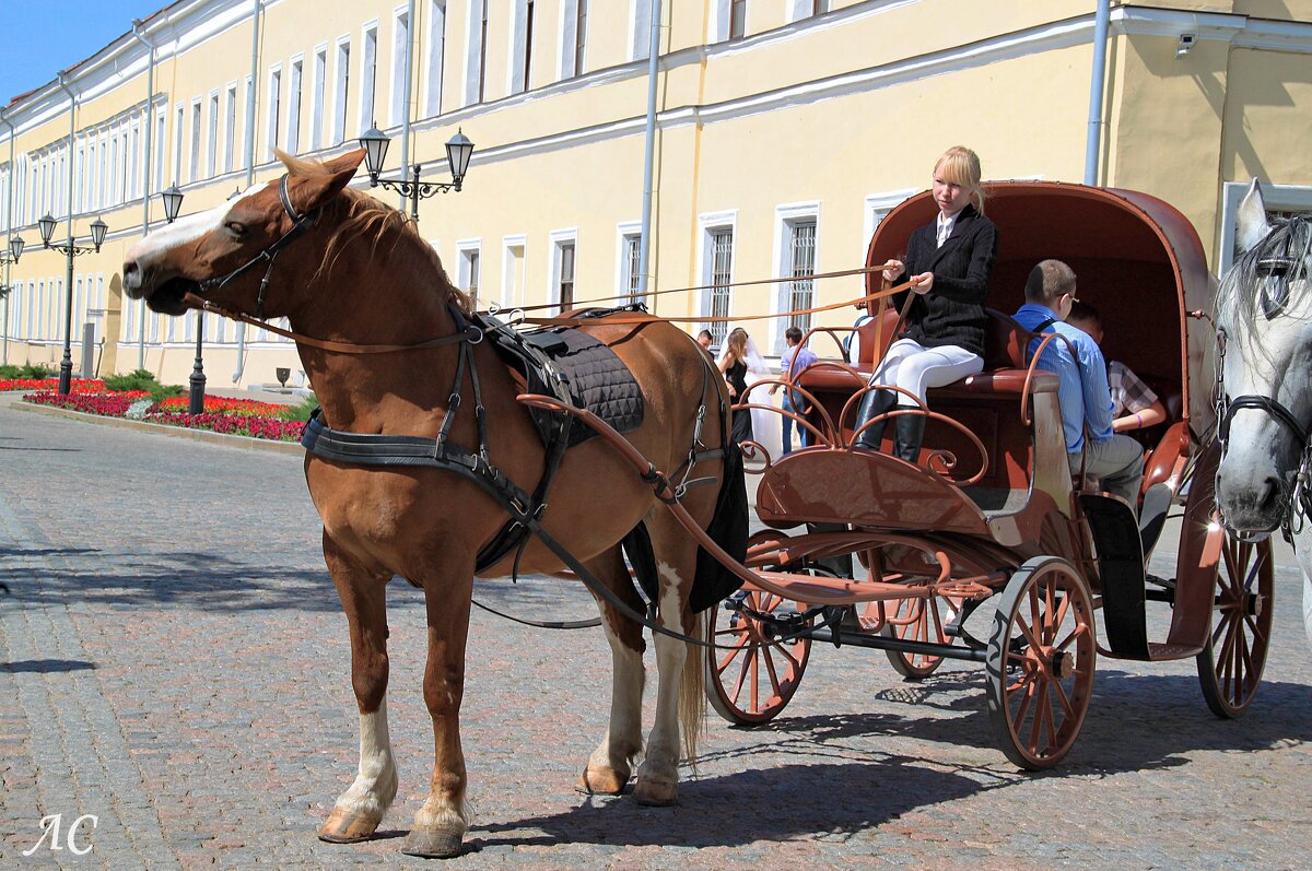
[[[791,599],[761,590],[748,590],[743,599],[744,609],[760,614],[773,614],[785,605],[791,606]],[[733,649],[707,651],[706,698],[729,723],[769,723],[798,691],[811,658],[811,639],[771,639],[762,622],[745,610],[715,607],[710,619],[711,641]]]

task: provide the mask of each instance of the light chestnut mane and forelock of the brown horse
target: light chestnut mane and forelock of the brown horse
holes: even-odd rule
[[[332,169],[318,160],[295,157],[282,151],[278,151],[277,155],[293,176],[316,178],[332,174]],[[328,245],[324,248],[323,261],[311,281],[327,278],[346,245],[357,239],[363,239],[369,244],[370,262],[378,256],[380,245],[386,245],[383,257],[390,258],[403,241],[409,241],[419,256],[425,258],[434,270],[436,286],[433,290],[443,299],[453,302],[463,314],[472,314],[474,304],[468,294],[451,282],[437,252],[424,241],[415,222],[404,211],[392,209],[361,190],[346,188],[324,205],[321,214],[325,223],[336,226],[336,232],[329,237]]]

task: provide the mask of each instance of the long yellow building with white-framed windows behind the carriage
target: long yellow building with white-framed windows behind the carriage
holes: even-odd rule
[[[101,374],[140,366],[185,382],[195,316],[161,317],[121,293],[123,253],[164,218],[159,192],[177,184],[184,211],[206,209],[276,177],[273,147],[325,159],[375,122],[394,139],[386,174],[417,161],[425,180],[445,181],[443,143],[457,130],[476,143],[464,190],[422,202],[419,226],[483,304],[635,290],[653,5],[178,0],[125,22],[4,109],[0,237],[26,241],[7,266],[4,361],[63,353],[67,258],[42,249],[37,222],[58,218],[62,241],[71,213],[79,244],[96,216],[110,228],[100,253],[73,262],[75,367],[91,324]],[[880,215],[926,188],[958,143],[980,153],[987,178],[1152,193],[1193,220],[1218,270],[1250,177],[1274,185],[1273,209],[1312,209],[1312,0],[661,9],[651,289],[859,266]],[[859,293],[845,278],[651,304],[748,315]],[[850,312],[827,323],[846,325]],[[783,324],[749,329],[781,350]],[[291,344],[265,331],[214,316],[203,331],[211,387],[299,370]]]

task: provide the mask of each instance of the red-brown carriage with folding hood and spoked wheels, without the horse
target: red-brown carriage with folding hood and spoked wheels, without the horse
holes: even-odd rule
[[[770,529],[753,537],[748,559],[758,582],[712,618],[712,640],[737,649],[711,655],[708,694],[735,723],[778,715],[824,641],[883,649],[908,678],[947,658],[984,662],[998,741],[1027,769],[1055,765],[1071,749],[1098,653],[1197,658],[1203,695],[1220,716],[1242,714],[1253,699],[1270,635],[1273,563],[1269,542],[1236,540],[1214,518],[1210,325],[1190,340],[1210,298],[1197,235],[1169,205],[1135,192],[1008,182],[988,193],[1000,245],[985,369],[932,390],[928,408],[893,412],[928,417],[917,463],[888,445],[850,446],[859,395],[893,338],[896,311],[859,328],[855,365],[821,359],[783,379],[812,407],[812,446],[766,466],[757,514]],[[926,193],[890,213],[867,264],[897,256],[934,209]],[[1097,481],[1072,479],[1056,375],[1038,367],[1036,337],[1004,314],[1048,257],[1067,261],[1080,295],[1102,307],[1109,359],[1141,373],[1168,408],[1166,422],[1139,434],[1143,530]],[[869,273],[871,294],[878,281]],[[819,344],[819,333],[834,331],[812,332]],[[1168,529],[1162,506],[1181,519],[1174,577],[1147,569],[1149,554],[1168,547],[1158,540]],[[1170,609],[1165,635],[1149,628],[1153,607]]]

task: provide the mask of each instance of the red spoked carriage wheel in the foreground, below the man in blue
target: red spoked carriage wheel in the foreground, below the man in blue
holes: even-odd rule
[[[1002,752],[1030,771],[1065,757],[1093,695],[1096,630],[1089,586],[1069,563],[1031,559],[1008,581],[985,666]]]

